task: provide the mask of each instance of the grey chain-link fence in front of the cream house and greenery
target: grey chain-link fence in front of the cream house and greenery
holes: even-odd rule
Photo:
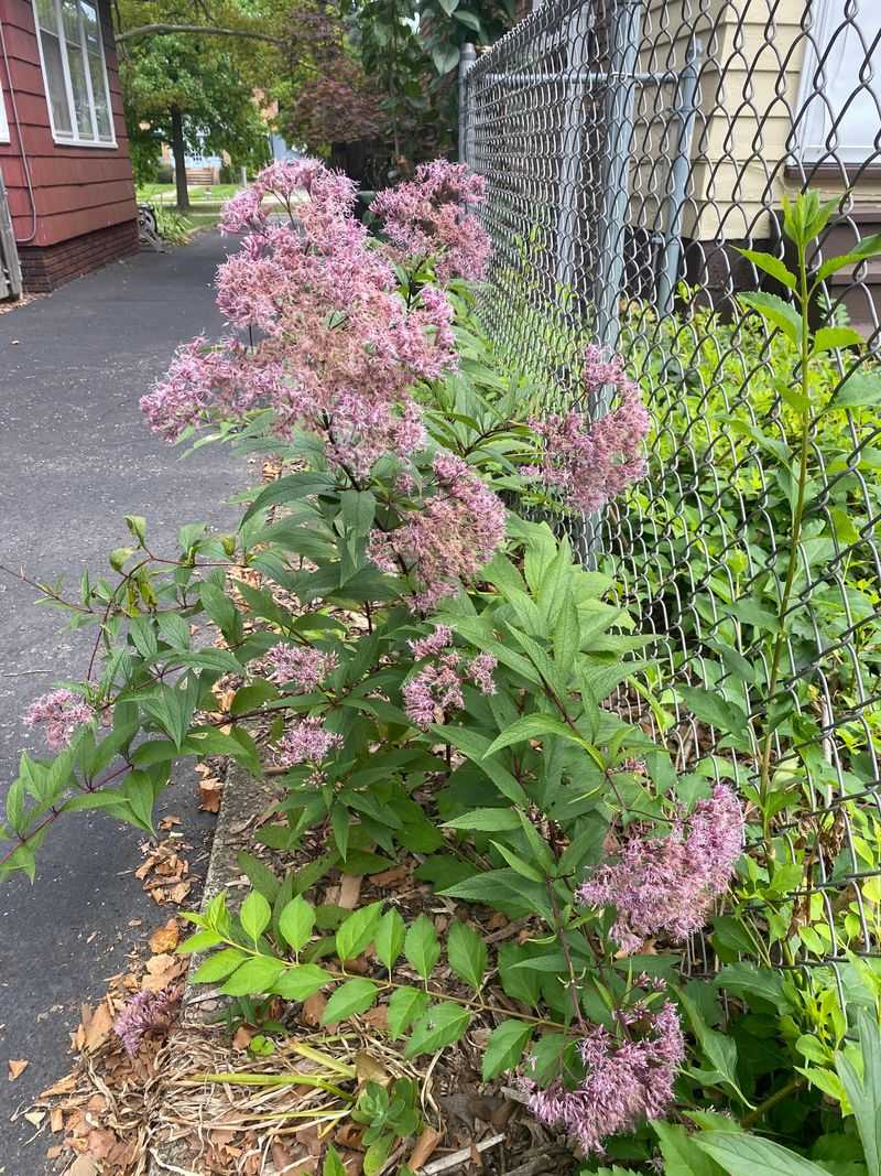
[[[813,948],[827,958],[879,950],[881,403],[850,397],[812,427],[768,707],[798,356],[738,302],[747,289],[786,294],[739,248],[785,258],[782,202],[806,188],[841,201],[814,266],[881,230],[880,75],[877,0],[547,0],[473,64],[469,47],[460,71],[462,154],[489,189],[492,338],[552,407],[580,402],[587,342],[619,349],[654,419],[645,482],[573,528],[655,635],[658,668],[623,701],[663,731],[681,771],[735,776],[747,793],[771,713],[774,788],[808,800],[788,836],[811,883],[788,896],[787,917],[825,909]],[[850,263],[814,308],[869,350],[881,334],[873,267]],[[865,349],[818,361],[819,400],[856,363],[870,385]],[[718,706],[704,695],[697,715],[688,684]],[[741,714],[752,751],[718,735]]]

